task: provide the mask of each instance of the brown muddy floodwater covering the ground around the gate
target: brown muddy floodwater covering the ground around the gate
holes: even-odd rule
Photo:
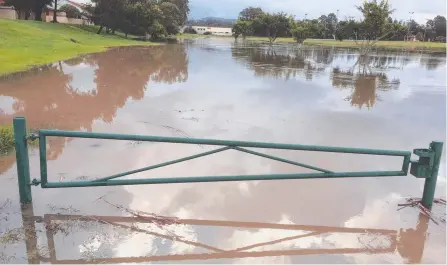
[[[24,116],[32,129],[413,150],[445,140],[445,71],[443,55],[377,53],[359,63],[354,50],[230,39],[121,48],[3,78],[0,124]],[[49,138],[49,178],[94,179],[213,148]],[[263,151],[333,171],[400,166]],[[38,179],[38,152],[29,155]],[[0,172],[2,263],[446,262],[445,223],[397,211],[422,194],[412,176],[34,187],[32,209],[21,211],[14,153]],[[132,177],[289,172],[308,171],[226,151]],[[443,162],[436,197],[445,183]],[[434,212],[445,218],[443,206]]]

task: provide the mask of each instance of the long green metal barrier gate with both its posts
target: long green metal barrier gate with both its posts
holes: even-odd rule
[[[91,181],[69,181],[69,182],[48,182],[46,138],[47,137],[73,137],[73,138],[94,138],[110,140],[146,141],[179,144],[200,144],[221,146],[212,151],[175,159],[164,163],[139,168],[120,174],[103,177]],[[32,201],[31,186],[40,185],[42,188],[71,188],[71,187],[94,187],[94,186],[121,186],[140,184],[168,184],[168,183],[192,183],[192,182],[218,182],[218,181],[248,181],[248,180],[280,180],[280,179],[316,179],[316,178],[360,178],[360,177],[392,177],[406,176],[410,173],[417,178],[425,179],[425,186],[422,196],[422,205],[431,208],[433,204],[436,181],[441,161],[443,142],[432,142],[428,149],[414,149],[413,153],[419,157],[418,160],[411,161],[410,151],[363,149],[315,145],[280,144],[263,142],[243,142],[224,141],[213,139],[177,138],[148,135],[129,134],[109,134],[64,130],[40,130],[37,135],[27,135],[25,118],[14,118],[14,137],[17,156],[17,174],[19,178],[19,193],[21,203]],[[28,140],[39,139],[40,154],[40,180],[31,181],[29,172]],[[364,172],[332,172],[327,169],[287,160],[281,157],[271,156],[246,148],[318,151],[331,153],[349,153],[401,157],[402,165],[393,171],[364,171]],[[233,176],[201,176],[201,177],[177,177],[177,178],[149,178],[149,179],[117,179],[123,176],[148,171],[155,168],[165,167],[187,160],[223,152],[226,150],[237,150],[240,152],[280,161],[283,163],[304,167],[317,171],[315,173],[292,173],[292,174],[263,174],[263,175],[233,175]],[[410,168],[411,165],[411,168]]]

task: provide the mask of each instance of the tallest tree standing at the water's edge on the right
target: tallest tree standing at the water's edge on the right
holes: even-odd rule
[[[363,37],[367,40],[377,40],[382,38],[385,32],[385,25],[388,23],[388,17],[393,13],[387,0],[365,1],[357,9],[362,12],[364,20],[362,23]]]

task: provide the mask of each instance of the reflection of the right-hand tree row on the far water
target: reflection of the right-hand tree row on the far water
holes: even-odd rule
[[[350,89],[345,100],[352,106],[370,109],[381,100],[380,91],[398,90],[400,79],[389,76],[389,71],[403,69],[415,58],[404,53],[381,52],[359,56],[349,49],[296,48],[290,46],[242,45],[234,46],[232,57],[255,76],[275,79],[329,78],[334,88]],[[419,64],[434,70],[443,63],[443,58],[421,55]],[[330,75],[327,75],[327,72]]]

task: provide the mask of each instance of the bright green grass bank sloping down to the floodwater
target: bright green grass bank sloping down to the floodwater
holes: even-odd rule
[[[0,19],[0,75],[108,47],[154,45],[122,34],[98,35],[96,30],[94,26]]]

